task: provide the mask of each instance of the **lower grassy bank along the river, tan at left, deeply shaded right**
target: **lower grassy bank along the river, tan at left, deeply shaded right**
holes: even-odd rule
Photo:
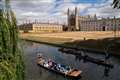
[[[88,40],[75,40],[71,38],[55,38],[55,37],[38,37],[38,36],[21,36],[22,39],[49,44],[59,47],[77,48],[84,51],[105,53],[105,50],[112,54],[120,56],[120,38],[104,38],[104,39],[88,39]]]

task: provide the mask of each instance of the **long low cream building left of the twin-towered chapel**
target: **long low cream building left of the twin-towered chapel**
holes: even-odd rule
[[[20,32],[61,32],[63,25],[54,23],[26,23],[19,25]]]

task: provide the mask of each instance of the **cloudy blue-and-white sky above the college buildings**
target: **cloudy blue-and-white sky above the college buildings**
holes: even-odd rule
[[[18,23],[50,22],[67,23],[67,9],[79,9],[79,15],[97,17],[120,17],[120,9],[113,9],[112,0],[11,0],[11,7]]]

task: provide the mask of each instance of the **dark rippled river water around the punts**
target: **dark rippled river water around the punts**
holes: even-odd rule
[[[78,80],[120,80],[120,59],[111,57],[114,68],[110,69],[109,76],[105,76],[105,67],[82,60],[76,60],[76,56],[58,51],[59,47],[39,44],[34,42],[22,42],[25,61],[25,80],[71,80],[59,74],[47,71],[36,65],[36,55],[42,53],[46,58],[51,58],[58,63],[70,65],[82,70],[82,78]],[[103,59],[104,55],[86,53],[89,56]]]

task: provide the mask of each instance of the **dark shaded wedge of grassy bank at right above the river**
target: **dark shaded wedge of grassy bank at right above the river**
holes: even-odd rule
[[[95,53],[110,53],[115,56],[120,56],[120,38],[104,38],[104,39],[88,39],[75,40],[73,42],[64,43],[65,46],[74,46],[78,49],[83,49]]]

